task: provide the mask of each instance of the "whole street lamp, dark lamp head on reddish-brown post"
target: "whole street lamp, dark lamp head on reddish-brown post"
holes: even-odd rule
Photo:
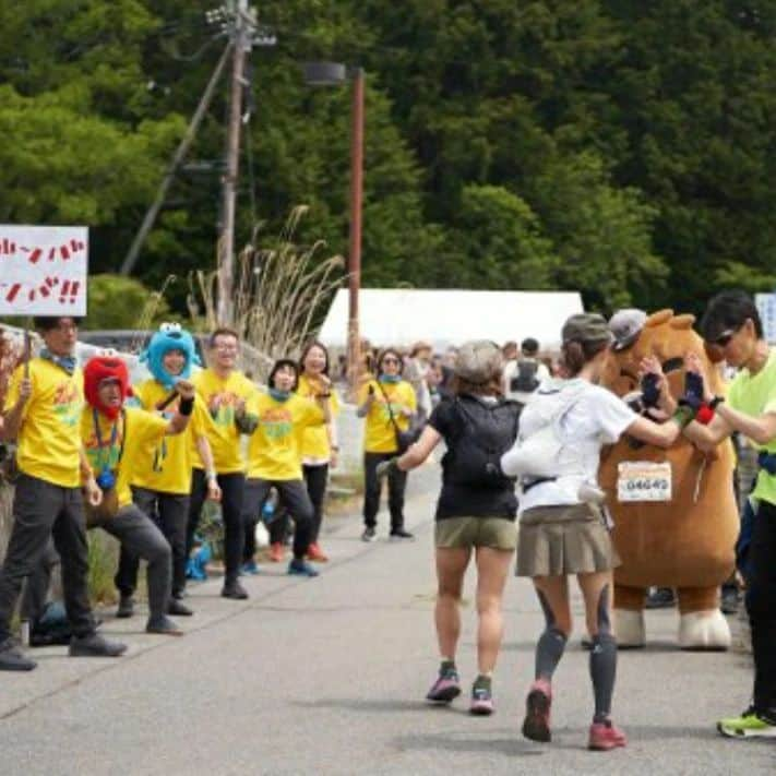
[[[347,369],[350,394],[358,392],[361,341],[358,291],[361,287],[361,210],[363,204],[363,70],[339,62],[306,62],[305,81],[311,86],[342,86],[353,81],[350,110],[350,248],[348,254]]]

